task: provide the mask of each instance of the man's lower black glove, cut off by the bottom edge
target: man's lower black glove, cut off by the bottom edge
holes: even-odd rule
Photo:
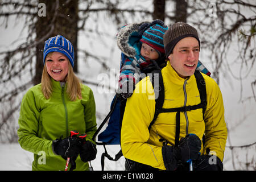
[[[201,155],[194,163],[195,171],[222,171],[223,164],[216,155]]]

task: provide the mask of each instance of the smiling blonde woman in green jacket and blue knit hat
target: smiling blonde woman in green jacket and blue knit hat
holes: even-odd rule
[[[96,108],[92,90],[73,73],[71,42],[61,35],[49,38],[43,63],[41,83],[28,90],[20,106],[20,146],[34,153],[32,170],[64,170],[67,158],[69,168],[88,170],[97,153]],[[86,133],[86,142],[71,137],[72,130]]]

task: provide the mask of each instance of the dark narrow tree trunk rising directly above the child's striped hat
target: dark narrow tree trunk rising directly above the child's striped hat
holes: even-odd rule
[[[153,19],[160,19],[164,22],[166,0],[154,0]]]

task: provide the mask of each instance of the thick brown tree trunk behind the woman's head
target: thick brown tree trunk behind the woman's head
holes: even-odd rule
[[[66,3],[66,0],[40,0],[39,3],[44,3],[46,5],[46,16],[38,16],[36,22],[36,41],[39,41],[46,36],[51,28],[53,28],[53,31],[44,41],[56,35],[62,35],[67,38],[74,47],[75,65],[73,70],[77,72],[78,0],[68,1],[68,3]],[[36,46],[34,85],[41,82],[44,41]]]

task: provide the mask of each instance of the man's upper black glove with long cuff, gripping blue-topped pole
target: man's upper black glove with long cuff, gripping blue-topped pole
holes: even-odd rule
[[[177,169],[177,163],[181,160],[186,163],[189,159],[196,160],[199,158],[201,150],[201,140],[194,134],[189,134],[181,138],[179,145],[162,147],[164,166],[167,170],[174,171]]]

